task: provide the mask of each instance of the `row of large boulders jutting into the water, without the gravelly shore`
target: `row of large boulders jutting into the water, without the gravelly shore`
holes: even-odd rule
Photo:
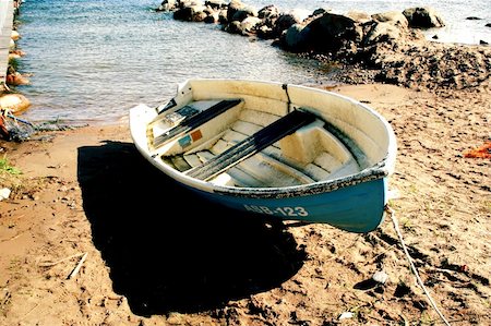
[[[232,34],[274,39],[275,45],[288,51],[335,56],[352,56],[358,49],[381,41],[423,38],[419,29],[411,27],[444,26],[443,20],[430,8],[342,15],[326,9],[282,12],[273,4],[258,10],[240,0],[164,0],[157,11],[173,12],[173,17],[180,21],[220,24],[223,31]]]

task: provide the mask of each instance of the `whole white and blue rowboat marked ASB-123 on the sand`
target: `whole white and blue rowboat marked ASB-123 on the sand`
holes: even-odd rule
[[[145,159],[209,201],[357,233],[384,219],[394,131],[374,109],[337,93],[191,79],[157,107],[131,108],[129,124]]]

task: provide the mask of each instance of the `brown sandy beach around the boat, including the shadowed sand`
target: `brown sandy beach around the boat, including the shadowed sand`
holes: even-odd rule
[[[395,129],[390,185],[400,196],[390,206],[443,315],[491,325],[491,159],[464,156],[490,141],[489,84],[331,90]],[[158,173],[125,121],[45,135],[53,138],[0,142],[23,171],[0,202],[0,325],[442,324],[390,218],[369,234],[279,228]],[[378,270],[383,286],[370,282]]]

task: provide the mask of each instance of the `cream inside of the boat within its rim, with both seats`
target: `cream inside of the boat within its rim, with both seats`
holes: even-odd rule
[[[158,108],[148,147],[169,167],[219,185],[283,188],[355,174],[383,158],[319,110],[254,98],[193,99]]]

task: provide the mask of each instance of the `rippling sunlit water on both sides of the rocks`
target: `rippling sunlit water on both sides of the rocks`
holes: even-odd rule
[[[190,77],[261,79],[297,84],[328,83],[328,67],[300,60],[271,46],[230,35],[218,26],[178,22],[154,11],[151,0],[26,0],[21,8],[17,46],[27,55],[19,86],[32,106],[31,121],[112,122],[129,108],[156,105]],[[283,11],[328,8],[368,13],[431,5],[447,26],[430,31],[441,41],[491,43],[488,1],[298,1],[249,0],[258,9],[275,3]],[[478,16],[480,21],[468,21]]]

